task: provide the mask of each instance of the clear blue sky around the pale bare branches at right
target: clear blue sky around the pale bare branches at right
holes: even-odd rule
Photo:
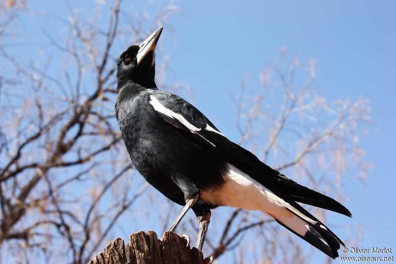
[[[42,10],[42,4],[31,5]],[[145,4],[133,3],[137,8]],[[371,100],[372,131],[377,132],[362,138],[361,146],[374,168],[365,187],[357,182],[348,186],[350,201],[345,205],[353,218],[334,213],[331,221],[363,223],[359,247],[396,250],[396,175],[391,170],[396,158],[396,3],[187,0],[177,5],[181,12],[171,17],[176,38],[165,27],[159,49],[170,55],[175,79],[191,87],[194,104],[234,141],[239,135],[230,93],[239,91],[246,75],[258,87],[261,70],[283,46],[302,58],[318,59],[317,83],[330,101]],[[67,15],[64,2],[45,6],[46,12]],[[45,24],[42,19],[37,16],[36,23]],[[33,26],[39,28],[23,26],[30,42],[43,43],[42,32],[30,31]],[[59,30],[56,20],[47,26]],[[34,59],[34,53],[31,56]],[[315,258],[323,260],[321,255]]]

